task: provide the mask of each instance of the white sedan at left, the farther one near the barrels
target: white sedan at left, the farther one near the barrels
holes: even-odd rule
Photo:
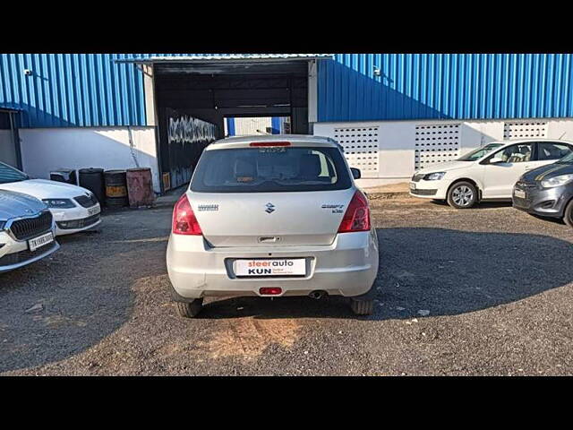
[[[20,170],[0,163],[0,190],[29,194],[45,202],[56,220],[56,236],[96,227],[99,202],[85,188],[46,179],[30,179]]]

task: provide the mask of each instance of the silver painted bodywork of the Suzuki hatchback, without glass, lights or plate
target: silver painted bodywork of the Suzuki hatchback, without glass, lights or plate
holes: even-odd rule
[[[225,139],[206,150],[249,147],[251,142],[288,141],[292,146],[336,147],[329,138],[273,135]],[[343,157],[344,159],[344,157]],[[369,231],[338,233],[357,188],[279,193],[196,193],[187,190],[203,236],[171,234],[167,271],[183,299],[260,296],[261,287],[282,288],[280,296],[314,290],[347,297],[368,292],[379,265],[378,237]],[[268,205],[272,205],[269,207]],[[238,278],[240,259],[304,258],[301,277]]]

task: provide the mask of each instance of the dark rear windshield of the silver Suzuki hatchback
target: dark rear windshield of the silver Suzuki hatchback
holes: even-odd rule
[[[337,148],[206,150],[192,177],[200,193],[344,190],[352,185]]]

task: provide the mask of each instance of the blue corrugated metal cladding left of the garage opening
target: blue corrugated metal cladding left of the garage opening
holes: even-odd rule
[[[130,56],[3,54],[0,106],[22,109],[21,127],[145,125],[141,72],[113,61]]]

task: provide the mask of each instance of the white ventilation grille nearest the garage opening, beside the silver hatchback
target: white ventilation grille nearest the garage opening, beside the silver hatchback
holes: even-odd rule
[[[351,168],[363,176],[378,176],[378,127],[335,127],[334,139],[342,145]]]

